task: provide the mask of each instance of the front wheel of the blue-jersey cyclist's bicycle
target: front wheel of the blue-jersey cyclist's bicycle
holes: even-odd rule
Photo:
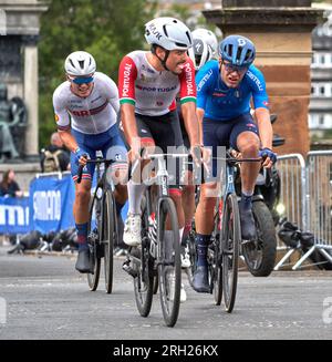
[[[224,302],[226,311],[230,313],[237,293],[239,244],[241,241],[240,215],[236,194],[227,196],[220,235]]]

